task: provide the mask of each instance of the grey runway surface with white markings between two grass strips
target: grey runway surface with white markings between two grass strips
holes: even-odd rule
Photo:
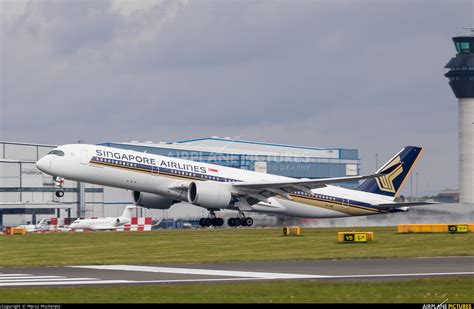
[[[0,268],[0,287],[184,284],[256,280],[403,280],[473,274],[472,256],[232,264],[81,265]]]

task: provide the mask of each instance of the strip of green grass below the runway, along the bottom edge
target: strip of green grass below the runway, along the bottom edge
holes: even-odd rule
[[[0,289],[2,303],[472,303],[474,277]]]

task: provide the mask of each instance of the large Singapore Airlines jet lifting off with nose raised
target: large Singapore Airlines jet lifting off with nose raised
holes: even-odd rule
[[[38,160],[36,166],[56,177],[132,190],[136,205],[168,209],[188,202],[208,209],[203,226],[221,226],[214,211],[239,213],[230,226],[251,226],[244,212],[263,212],[305,218],[366,216],[406,211],[423,203],[395,203],[403,181],[422,152],[407,146],[375,174],[326,179],[295,179],[206,164],[167,156],[99,145],[59,146]],[[356,189],[332,184],[365,180]],[[56,192],[62,196],[61,188]]]

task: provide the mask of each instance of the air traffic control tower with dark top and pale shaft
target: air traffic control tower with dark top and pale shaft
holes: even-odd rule
[[[456,57],[445,68],[459,101],[459,202],[474,204],[474,28],[453,38]]]

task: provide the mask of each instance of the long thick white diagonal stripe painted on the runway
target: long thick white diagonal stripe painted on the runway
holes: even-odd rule
[[[308,278],[326,278],[323,275],[303,275],[287,273],[268,273],[254,271],[233,271],[233,270],[214,270],[197,268],[173,268],[173,267],[154,267],[154,266],[136,266],[136,265],[89,265],[89,266],[69,266],[74,268],[92,268],[101,270],[124,270],[141,271],[150,273],[167,273],[183,275],[205,275],[222,277],[242,277],[242,278],[264,278],[264,279],[308,279]]]

